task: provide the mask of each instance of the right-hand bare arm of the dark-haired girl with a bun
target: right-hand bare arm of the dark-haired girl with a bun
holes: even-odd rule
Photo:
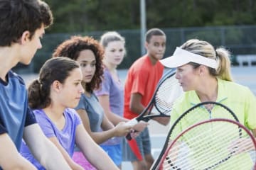
[[[75,131],[75,144],[78,145],[86,159],[97,169],[118,169],[106,152],[92,140],[82,125],[78,125]]]

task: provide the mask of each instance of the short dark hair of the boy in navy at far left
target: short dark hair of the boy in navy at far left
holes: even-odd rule
[[[50,7],[41,0],[0,0],[0,46],[18,42],[24,31],[46,28],[53,23]]]

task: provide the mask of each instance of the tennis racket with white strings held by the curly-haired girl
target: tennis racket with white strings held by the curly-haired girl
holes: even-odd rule
[[[178,96],[181,96],[183,90],[175,78],[176,70],[169,70],[160,79],[159,84],[154,91],[148,106],[142,111],[137,118],[133,118],[127,122],[127,125],[136,125],[140,120],[148,122],[156,117],[169,117],[172,105]],[[131,140],[130,134],[127,140]]]

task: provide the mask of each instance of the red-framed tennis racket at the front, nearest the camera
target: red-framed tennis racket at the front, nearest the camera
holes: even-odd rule
[[[256,142],[237,121],[211,119],[181,132],[161,157],[160,169],[256,169]]]

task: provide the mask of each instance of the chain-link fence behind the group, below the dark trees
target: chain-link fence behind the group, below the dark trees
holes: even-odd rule
[[[227,47],[232,53],[233,65],[237,65],[237,55],[256,56],[256,26],[221,26],[203,28],[162,28],[166,33],[166,53],[164,57],[171,55],[177,46],[191,38],[206,40],[215,47]],[[127,56],[124,58],[119,69],[127,69],[131,64],[141,57],[140,30],[117,30],[126,40]],[[38,50],[36,56],[28,67],[21,64],[16,70],[25,68],[26,72],[38,72],[41,65],[51,56],[55,47],[60,42],[67,40],[72,35],[88,35],[99,40],[100,35],[105,31],[95,31],[90,33],[55,33],[46,34],[42,40],[43,48]],[[256,57],[255,57],[256,60]],[[255,60],[252,65],[256,65]]]

